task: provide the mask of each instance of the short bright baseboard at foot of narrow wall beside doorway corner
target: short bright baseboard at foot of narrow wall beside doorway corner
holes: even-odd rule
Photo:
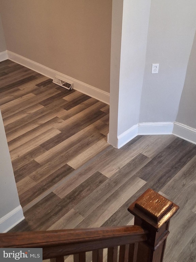
[[[123,147],[126,143],[134,139],[138,135],[138,127],[139,125],[136,124],[129,128],[127,131],[123,132],[121,135],[118,136],[117,148]]]

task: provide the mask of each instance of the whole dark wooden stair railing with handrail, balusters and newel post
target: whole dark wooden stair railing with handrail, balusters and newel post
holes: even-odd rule
[[[83,262],[88,251],[92,262],[101,262],[104,248],[109,262],[117,262],[118,256],[119,262],[162,262],[169,221],[178,209],[148,189],[128,208],[134,226],[3,233],[0,248],[43,248],[43,259],[51,262],[63,262],[71,254],[74,262]]]

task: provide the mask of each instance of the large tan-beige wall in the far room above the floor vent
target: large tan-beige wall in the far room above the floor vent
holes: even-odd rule
[[[109,92],[112,0],[1,0],[6,45]]]

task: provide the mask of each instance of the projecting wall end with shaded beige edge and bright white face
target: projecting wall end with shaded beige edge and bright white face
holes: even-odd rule
[[[118,141],[119,136],[123,139],[123,134],[139,121],[150,3],[113,0],[108,142],[114,147],[126,142]]]

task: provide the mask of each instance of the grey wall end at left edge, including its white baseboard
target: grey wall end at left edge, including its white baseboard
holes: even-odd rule
[[[24,219],[0,112],[0,233]]]

